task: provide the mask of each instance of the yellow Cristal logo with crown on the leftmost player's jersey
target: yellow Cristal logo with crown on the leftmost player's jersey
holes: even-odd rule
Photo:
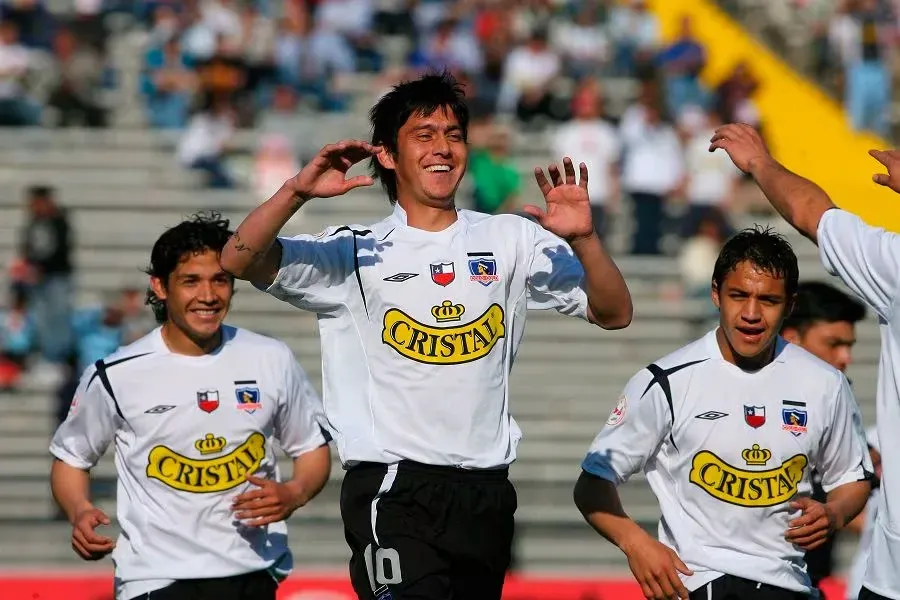
[[[224,448],[224,444],[219,446],[222,438],[217,439],[214,435],[207,446],[211,435],[207,434],[206,438],[197,441],[208,450],[206,454]],[[200,450],[199,445],[196,447]],[[202,450],[200,452],[203,453]],[[250,434],[244,443],[228,454],[206,460],[188,458],[160,445],[150,450],[147,477],[182,492],[224,492],[246,481],[247,473],[255,472],[265,456],[266,438],[258,431]]]

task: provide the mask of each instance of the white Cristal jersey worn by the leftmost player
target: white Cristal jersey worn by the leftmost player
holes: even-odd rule
[[[205,356],[175,354],[157,328],[82,376],[50,452],[90,469],[115,442],[113,551],[119,600],[178,579],[289,571],[284,522],[247,527],[232,499],[247,474],[278,479],[274,440],[292,458],[326,443],[321,403],[290,349],[233,327]]]

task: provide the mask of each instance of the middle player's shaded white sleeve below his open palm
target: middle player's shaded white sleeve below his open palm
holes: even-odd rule
[[[534,232],[526,284],[528,308],[552,308],[587,320],[588,299],[581,262],[565,240],[536,223],[528,224]]]

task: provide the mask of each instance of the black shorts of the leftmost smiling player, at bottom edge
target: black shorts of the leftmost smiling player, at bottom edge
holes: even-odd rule
[[[278,582],[268,571],[234,577],[182,579],[133,600],[275,600]]]

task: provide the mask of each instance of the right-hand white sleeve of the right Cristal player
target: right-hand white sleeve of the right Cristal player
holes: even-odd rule
[[[843,375],[830,404],[830,422],[826,423],[816,456],[816,470],[826,492],[862,481],[873,471],[859,406]]]

